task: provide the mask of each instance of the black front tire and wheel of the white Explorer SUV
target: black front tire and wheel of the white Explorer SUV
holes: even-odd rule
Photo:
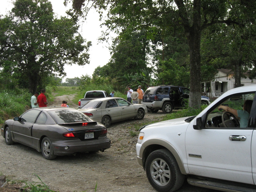
[[[158,149],[149,154],[146,173],[152,187],[160,192],[176,191],[185,180],[174,156],[167,149]]]

